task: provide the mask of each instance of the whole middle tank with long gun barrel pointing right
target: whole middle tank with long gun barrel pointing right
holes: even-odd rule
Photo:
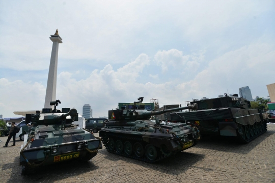
[[[151,116],[182,110],[197,109],[197,104],[163,111],[148,111],[136,107],[143,101],[138,98],[134,106],[110,110],[104,127],[99,131],[103,145],[108,152],[146,162],[156,162],[176,152],[195,146],[200,139],[199,130],[186,123],[160,124],[149,120]]]

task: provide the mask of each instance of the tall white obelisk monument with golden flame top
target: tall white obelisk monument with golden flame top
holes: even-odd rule
[[[50,56],[49,75],[48,75],[44,108],[51,108],[49,104],[50,101],[56,101],[58,46],[59,46],[59,43],[62,43],[62,39],[58,34],[58,30],[54,35],[50,35],[50,40],[52,41],[52,49],[51,49],[51,56]]]

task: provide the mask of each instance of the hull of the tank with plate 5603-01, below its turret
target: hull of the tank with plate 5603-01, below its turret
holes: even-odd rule
[[[102,149],[101,139],[87,130],[75,125],[59,131],[53,131],[52,128],[56,128],[56,125],[39,125],[33,136],[24,135],[19,162],[22,174],[28,174],[30,169],[39,166],[64,161],[88,161],[97,154],[98,149]]]

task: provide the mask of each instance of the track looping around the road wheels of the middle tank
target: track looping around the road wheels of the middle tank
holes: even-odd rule
[[[130,141],[130,142],[132,142],[132,145],[133,145],[134,143],[136,143],[136,142],[141,142],[141,143],[143,143],[143,144],[145,143],[145,142],[142,140],[141,137],[129,137],[129,136],[126,137],[126,136],[122,136],[122,135],[120,135],[120,134],[114,134],[114,133],[111,134],[111,133],[106,133],[106,132],[102,132],[102,131],[101,131],[101,133],[103,134],[103,136],[106,135],[108,138],[113,138],[113,139],[116,139],[116,140],[119,139],[119,140],[121,140],[122,142]],[[161,153],[161,151],[160,151],[159,149],[157,149],[157,152],[158,152],[157,159],[154,160],[154,161],[151,161],[151,160],[148,160],[148,159],[147,159],[147,157],[146,157],[145,154],[143,155],[142,158],[139,158],[139,157],[137,157],[137,156],[134,155],[134,152],[132,152],[131,155],[128,155],[128,154],[126,154],[124,151],[123,151],[122,153],[119,153],[119,152],[117,152],[116,150],[112,151],[112,150],[110,150],[110,149],[108,148],[108,141],[106,141],[103,137],[101,137],[101,139],[102,139],[102,143],[103,143],[104,147],[106,148],[106,150],[107,150],[108,152],[111,152],[111,153],[113,153],[113,154],[118,154],[118,155],[121,155],[121,156],[125,156],[125,157],[131,158],[131,159],[144,161],[144,162],[155,163],[155,162],[158,162],[158,161],[160,161],[160,160],[169,158],[170,156],[172,156],[172,155],[174,154],[174,153],[172,152],[170,155],[165,155],[165,154]],[[147,144],[148,144],[148,143],[147,143]],[[193,145],[193,146],[194,146],[194,145]],[[191,147],[193,147],[193,146],[191,146]],[[160,154],[161,154],[161,155],[160,155]]]

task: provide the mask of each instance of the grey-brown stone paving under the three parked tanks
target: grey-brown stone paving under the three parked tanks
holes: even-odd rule
[[[19,167],[22,141],[4,148],[6,139],[0,137],[0,182],[275,182],[275,124],[249,144],[204,137],[197,146],[155,164],[100,149],[89,162],[39,167],[25,176]]]

